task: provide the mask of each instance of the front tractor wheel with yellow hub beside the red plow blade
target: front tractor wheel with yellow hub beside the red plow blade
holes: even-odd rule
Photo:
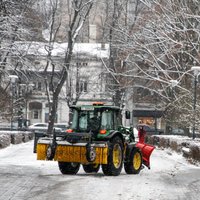
[[[139,174],[142,167],[142,154],[139,149],[132,149],[129,158],[124,163],[124,169],[127,174]]]

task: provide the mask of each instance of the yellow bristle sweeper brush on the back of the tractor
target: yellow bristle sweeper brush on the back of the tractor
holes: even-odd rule
[[[37,160],[47,160],[46,153],[49,144],[37,144]],[[96,147],[96,158],[92,163],[107,164],[108,147]],[[86,158],[86,146],[58,144],[54,156],[55,161],[89,163]]]

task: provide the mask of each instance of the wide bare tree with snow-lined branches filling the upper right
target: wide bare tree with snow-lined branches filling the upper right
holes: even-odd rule
[[[140,12],[132,18],[132,25],[114,29],[126,40],[112,41],[123,50],[129,66],[129,73],[121,75],[132,77],[133,87],[149,91],[143,90],[140,102],[152,91],[169,118],[178,114],[179,123],[188,126],[192,122],[191,67],[199,65],[199,4],[195,0],[140,0]],[[113,72],[115,77],[119,75]],[[172,88],[174,80],[178,84]]]

